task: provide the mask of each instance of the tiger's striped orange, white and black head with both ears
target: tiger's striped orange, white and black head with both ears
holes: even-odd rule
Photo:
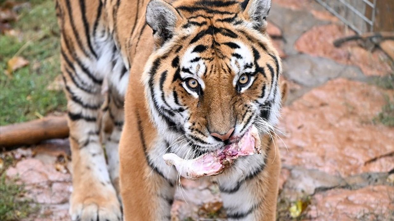
[[[266,33],[269,0],[149,3],[155,50],[143,76],[151,116],[168,142],[198,155],[268,132],[281,104],[281,61]]]

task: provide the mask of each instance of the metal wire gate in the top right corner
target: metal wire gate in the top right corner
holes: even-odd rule
[[[316,0],[357,34],[374,31],[376,0]]]

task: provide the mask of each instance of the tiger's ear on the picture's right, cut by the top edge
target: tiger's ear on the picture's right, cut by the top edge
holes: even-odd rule
[[[256,29],[265,29],[271,0],[245,0],[241,3],[243,16],[253,22]]]

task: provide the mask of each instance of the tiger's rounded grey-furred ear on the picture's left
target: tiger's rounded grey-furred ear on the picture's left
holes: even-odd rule
[[[163,0],[153,0],[147,5],[146,21],[153,29],[155,43],[162,45],[174,34],[175,24],[180,20],[177,10]]]

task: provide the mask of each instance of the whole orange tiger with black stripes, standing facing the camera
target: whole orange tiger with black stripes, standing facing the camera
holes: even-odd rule
[[[275,220],[286,83],[271,0],[56,0],[72,153],[73,221],[171,220],[193,159],[251,127],[261,154],[215,176],[228,220]]]

